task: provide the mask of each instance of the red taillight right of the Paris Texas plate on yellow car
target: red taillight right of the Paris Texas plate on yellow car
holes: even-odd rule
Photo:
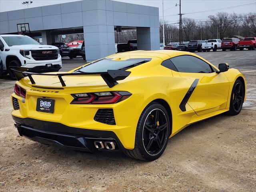
[[[127,99],[132,94],[126,91],[71,94],[71,104],[113,104]]]

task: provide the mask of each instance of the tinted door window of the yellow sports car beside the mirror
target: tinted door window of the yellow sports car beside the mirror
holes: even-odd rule
[[[170,59],[178,72],[212,73],[216,70],[203,60],[190,55],[177,56]]]

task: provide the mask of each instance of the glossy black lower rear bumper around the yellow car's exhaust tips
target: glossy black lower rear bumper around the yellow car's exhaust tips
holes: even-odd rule
[[[56,122],[32,118],[18,118],[15,116],[12,116],[12,118],[20,136],[36,142],[94,153],[98,150],[94,146],[94,141],[102,141],[103,143],[109,141],[114,142],[116,147],[114,150],[108,151],[124,150],[120,140],[112,131],[74,128]],[[104,147],[101,150],[107,149]]]

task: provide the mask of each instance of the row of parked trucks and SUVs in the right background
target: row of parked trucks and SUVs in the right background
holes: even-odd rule
[[[244,50],[244,48],[247,48],[248,50],[256,49],[256,37],[247,37],[240,41],[238,38],[226,38],[223,40],[210,39],[207,41],[193,40],[184,44],[167,44],[164,46],[164,50],[180,50],[189,52],[217,51],[218,49],[222,49],[222,51],[237,49]]]

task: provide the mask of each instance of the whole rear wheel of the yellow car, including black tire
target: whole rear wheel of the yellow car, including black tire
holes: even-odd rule
[[[134,159],[153,161],[159,158],[170,136],[170,118],[168,112],[159,103],[146,106],[138,121],[133,150],[124,153]]]

